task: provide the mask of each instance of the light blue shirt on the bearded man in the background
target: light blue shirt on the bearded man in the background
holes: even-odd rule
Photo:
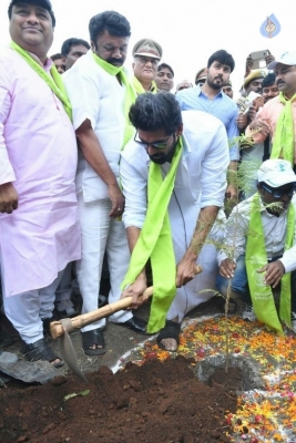
[[[176,95],[182,111],[203,111],[217,117],[225,126],[228,141],[239,135],[236,119],[238,109],[236,104],[224,92],[220,92],[213,100],[210,100],[201,90],[200,85],[180,91]],[[238,145],[229,148],[231,161],[239,159]]]

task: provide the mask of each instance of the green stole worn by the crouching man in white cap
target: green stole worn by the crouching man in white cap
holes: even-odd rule
[[[285,250],[293,246],[294,226],[295,209],[294,205],[290,204],[287,214]],[[283,334],[284,332],[277,316],[271,286],[265,286],[263,282],[264,274],[257,272],[257,269],[266,264],[267,256],[261,217],[259,195],[256,193],[251,205],[251,218],[246,241],[246,270],[249,292],[257,319]],[[290,272],[284,274],[280,280],[279,318],[284,323],[290,327]]]

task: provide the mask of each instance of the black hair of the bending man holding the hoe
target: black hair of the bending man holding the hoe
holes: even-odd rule
[[[175,96],[170,92],[139,95],[129,113],[130,121],[136,130],[164,130],[170,135],[182,124],[181,107]]]

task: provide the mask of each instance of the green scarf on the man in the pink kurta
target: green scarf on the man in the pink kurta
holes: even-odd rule
[[[57,71],[54,63],[50,69],[51,75],[30,55],[28,51],[24,51],[21,47],[19,47],[13,41],[10,43],[10,48],[14,51],[19,52],[19,54],[27,61],[27,63],[48,83],[51,91],[58,99],[62,102],[64,106],[64,111],[67,112],[69,119],[72,122],[72,107],[71,103],[68,99],[65,87],[62,81],[62,76]],[[32,85],[33,87],[33,85]]]

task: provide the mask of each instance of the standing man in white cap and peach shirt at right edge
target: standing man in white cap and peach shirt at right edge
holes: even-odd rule
[[[255,143],[263,143],[271,134],[271,158],[285,158],[295,167],[296,52],[285,52],[267,69],[275,71],[279,95],[265,103],[246,134],[253,136]]]

